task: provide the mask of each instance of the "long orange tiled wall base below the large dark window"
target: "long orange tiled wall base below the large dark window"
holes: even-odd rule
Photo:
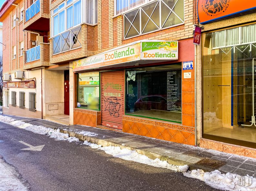
[[[123,132],[172,141],[195,144],[195,128],[139,117],[123,116]]]

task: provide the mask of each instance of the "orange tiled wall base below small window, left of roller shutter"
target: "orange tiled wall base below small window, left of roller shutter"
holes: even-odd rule
[[[75,108],[74,125],[85,125],[92,127],[101,125],[101,112]]]

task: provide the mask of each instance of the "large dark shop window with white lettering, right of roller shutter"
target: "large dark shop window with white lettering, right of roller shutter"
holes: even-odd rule
[[[125,114],[182,122],[180,64],[125,71]]]

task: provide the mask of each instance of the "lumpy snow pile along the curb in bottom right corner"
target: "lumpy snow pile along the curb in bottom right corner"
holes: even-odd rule
[[[189,178],[196,178],[204,181],[207,185],[217,188],[220,190],[230,190],[230,191],[256,191],[256,178],[250,177],[252,179],[252,184],[248,187],[243,187],[239,185],[240,175],[226,173],[222,174],[219,170],[214,170],[212,172],[204,172],[203,170],[197,169],[183,173],[184,176]],[[249,177],[249,175],[247,175]]]

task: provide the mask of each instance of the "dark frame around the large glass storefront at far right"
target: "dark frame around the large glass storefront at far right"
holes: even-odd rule
[[[221,28],[221,29],[214,29],[214,30],[209,30],[207,32],[203,32],[202,33],[202,43],[201,43],[201,60],[202,60],[202,67],[201,67],[201,76],[202,76],[202,80],[201,80],[201,97],[202,97],[202,108],[201,108],[201,116],[202,116],[202,138],[203,139],[208,139],[208,140],[212,140],[212,141],[217,141],[217,142],[222,142],[224,144],[232,144],[232,145],[238,145],[238,146],[243,146],[243,147],[248,147],[248,148],[253,148],[256,149],[256,143],[253,142],[249,142],[249,141],[245,141],[245,140],[239,140],[239,139],[234,139],[234,138],[229,138],[229,137],[224,137],[224,136],[218,136],[218,135],[210,135],[210,134],[206,134],[204,132],[204,62],[203,62],[203,35],[206,35],[208,33],[212,33],[212,32],[217,32],[217,31],[222,31],[222,30],[228,30],[228,29],[233,29],[233,28],[238,28],[238,27],[243,27],[243,26],[248,26],[248,25],[252,25],[252,24],[256,24],[256,22],[250,22],[250,23],[242,23],[242,24],[238,24],[236,26],[231,26],[231,27],[225,27],[225,28]],[[255,42],[251,42],[251,43],[255,43]],[[245,45],[246,43],[241,43],[241,45]],[[232,46],[237,46],[237,45],[232,45]],[[228,47],[232,47],[231,45],[225,46],[225,47],[217,47],[217,48],[228,48]],[[216,48],[212,48],[212,49],[216,49]],[[256,94],[256,93],[255,93]],[[256,127],[255,127],[256,128]]]

